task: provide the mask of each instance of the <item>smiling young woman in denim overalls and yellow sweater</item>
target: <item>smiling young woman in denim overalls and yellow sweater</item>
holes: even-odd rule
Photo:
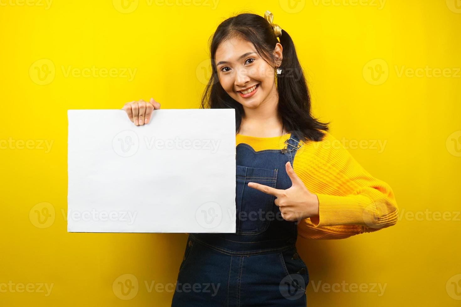
[[[172,306],[306,306],[298,230],[332,239],[396,223],[390,186],[311,115],[295,45],[272,18],[239,14],[213,35],[202,108],[236,112],[236,233],[189,234]],[[143,125],[160,104],[123,109]]]

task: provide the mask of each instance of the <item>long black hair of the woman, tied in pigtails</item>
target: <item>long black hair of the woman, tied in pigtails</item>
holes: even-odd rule
[[[273,55],[277,36],[271,24],[262,16],[251,13],[241,13],[227,18],[219,24],[218,28],[210,37],[210,59],[212,75],[208,81],[205,92],[201,98],[201,108],[205,109],[235,109],[236,133],[240,130],[242,104],[231,98],[219,83],[218,71],[215,63],[215,54],[222,41],[234,37],[253,43],[260,56],[272,67],[276,57]],[[282,45],[283,59],[280,64],[282,74],[277,75],[278,90],[278,113],[282,118],[282,129],[294,133],[299,139],[307,141],[320,141],[328,131],[327,123],[319,122],[311,114],[311,99],[307,89],[306,79],[296,55],[295,44],[290,35],[282,29],[279,37]]]

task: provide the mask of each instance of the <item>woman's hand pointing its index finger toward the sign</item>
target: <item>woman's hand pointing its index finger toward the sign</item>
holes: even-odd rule
[[[317,195],[309,192],[302,180],[296,175],[290,162],[285,164],[285,169],[291,179],[291,187],[286,190],[272,188],[267,185],[249,182],[248,186],[266,194],[277,197],[274,203],[280,208],[284,220],[302,220],[319,216],[319,199]]]

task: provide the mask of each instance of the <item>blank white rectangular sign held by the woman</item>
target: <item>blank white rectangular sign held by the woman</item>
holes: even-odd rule
[[[68,110],[68,232],[236,232],[235,110]]]

